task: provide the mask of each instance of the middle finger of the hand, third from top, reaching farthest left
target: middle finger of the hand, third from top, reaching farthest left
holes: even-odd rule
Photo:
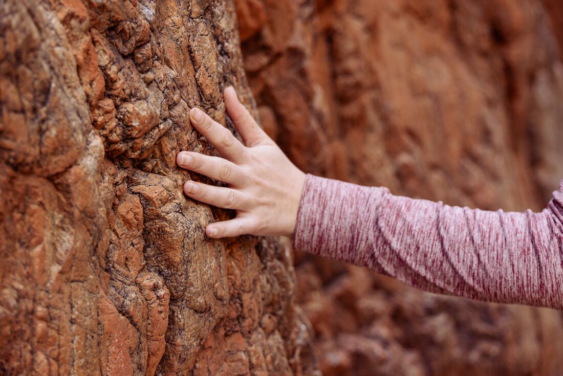
[[[176,163],[182,168],[234,186],[240,185],[240,182],[244,180],[240,168],[236,164],[218,156],[181,151],[176,156]]]

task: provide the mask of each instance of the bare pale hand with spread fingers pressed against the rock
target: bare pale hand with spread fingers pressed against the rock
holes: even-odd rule
[[[205,234],[210,238],[245,234],[290,236],[295,229],[305,173],[291,163],[258,126],[236,97],[233,87],[225,89],[224,99],[227,113],[244,144],[204,111],[193,108],[190,110],[192,126],[222,158],[181,151],[176,162],[181,168],[224,182],[227,187],[189,180],[184,184],[184,192],[194,200],[235,210],[233,220],[207,226]]]

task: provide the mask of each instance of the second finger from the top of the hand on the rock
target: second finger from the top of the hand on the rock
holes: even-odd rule
[[[229,129],[215,122],[198,108],[190,110],[190,121],[222,156],[235,163],[243,162],[246,149]]]

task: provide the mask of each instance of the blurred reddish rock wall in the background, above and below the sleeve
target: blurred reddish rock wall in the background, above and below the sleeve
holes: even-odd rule
[[[562,7],[545,4],[236,2],[262,124],[303,171],[518,211],[543,208],[563,178]],[[296,265],[326,376],[563,373],[560,312]]]

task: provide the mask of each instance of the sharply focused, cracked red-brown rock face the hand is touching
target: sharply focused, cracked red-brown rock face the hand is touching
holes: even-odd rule
[[[288,241],[182,194],[227,84],[230,1],[0,3],[0,374],[315,374]]]

